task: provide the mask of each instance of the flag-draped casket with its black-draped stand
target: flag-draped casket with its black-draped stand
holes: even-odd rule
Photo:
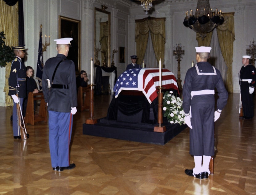
[[[114,86],[107,119],[133,123],[157,121],[158,68],[137,68],[123,72]],[[179,93],[174,74],[162,69],[162,87]]]

